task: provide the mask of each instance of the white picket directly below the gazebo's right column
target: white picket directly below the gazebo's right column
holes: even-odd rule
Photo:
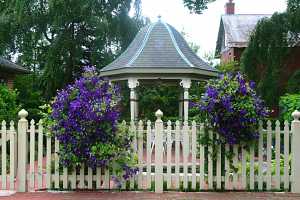
[[[183,125],[183,188],[188,188],[188,156],[189,156],[189,125],[185,121]]]

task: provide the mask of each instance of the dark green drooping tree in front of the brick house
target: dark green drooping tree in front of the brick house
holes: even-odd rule
[[[287,12],[258,22],[242,55],[242,70],[258,83],[258,91],[269,106],[278,106],[286,90],[281,77],[290,47],[299,41],[299,16],[299,1],[289,0]]]

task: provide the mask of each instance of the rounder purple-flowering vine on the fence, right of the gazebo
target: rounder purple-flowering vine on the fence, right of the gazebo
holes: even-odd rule
[[[254,89],[255,83],[248,83],[241,73],[208,81],[198,106],[226,143],[247,144],[259,137],[259,121],[268,112]]]

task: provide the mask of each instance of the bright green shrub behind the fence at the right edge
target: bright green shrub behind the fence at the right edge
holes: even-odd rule
[[[280,97],[280,119],[292,121],[292,113],[300,109],[300,94],[286,94]]]

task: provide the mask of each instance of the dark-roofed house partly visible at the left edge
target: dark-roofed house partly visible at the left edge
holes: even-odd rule
[[[7,84],[12,89],[16,75],[29,72],[29,70],[0,57],[0,84]]]

